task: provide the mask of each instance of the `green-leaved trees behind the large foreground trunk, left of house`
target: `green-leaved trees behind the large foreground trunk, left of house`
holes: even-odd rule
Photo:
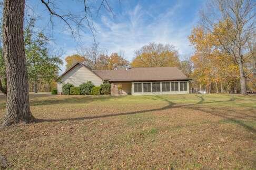
[[[29,82],[29,91],[51,91],[55,88],[55,80],[63,64],[61,54],[58,51],[49,49],[50,39],[43,33],[35,29],[34,18],[29,18],[24,28],[24,44],[26,55],[26,70]],[[2,47],[0,48],[0,90],[6,93],[6,72]]]

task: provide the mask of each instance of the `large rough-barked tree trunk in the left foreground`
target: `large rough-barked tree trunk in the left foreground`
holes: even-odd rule
[[[25,0],[5,0],[3,51],[7,79],[6,115],[2,126],[33,119],[29,108],[28,78],[23,38]]]

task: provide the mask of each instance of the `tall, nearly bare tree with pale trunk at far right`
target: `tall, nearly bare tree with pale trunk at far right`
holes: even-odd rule
[[[201,13],[203,26],[219,42],[216,47],[230,54],[239,65],[242,94],[247,94],[244,62],[252,56],[247,54],[255,31],[255,4],[252,0],[212,0]],[[226,31],[215,31],[220,22]]]

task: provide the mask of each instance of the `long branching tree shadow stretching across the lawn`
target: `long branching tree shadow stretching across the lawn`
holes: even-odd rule
[[[234,97],[231,97],[229,100],[225,100],[225,101],[209,101],[209,102],[205,102],[205,99],[203,98],[203,95],[196,95],[196,97],[198,97],[200,99],[199,102],[192,103],[192,104],[175,105],[176,103],[174,103],[174,102],[172,102],[172,101],[170,101],[166,98],[163,98],[161,96],[155,96],[151,99],[152,100],[165,101],[165,102],[168,103],[168,105],[166,105],[165,107],[162,107],[162,108],[157,108],[157,109],[140,110],[140,111],[124,112],[124,113],[116,113],[116,114],[104,114],[104,115],[97,115],[97,116],[85,116],[85,117],[81,117],[81,118],[38,119],[37,122],[80,121],[80,120],[90,120],[90,119],[99,119],[99,118],[109,118],[109,117],[121,116],[121,115],[132,115],[132,114],[139,114],[139,113],[146,113],[146,112],[162,111],[162,110],[175,109],[175,108],[187,108],[187,109],[193,109],[193,110],[209,113],[209,114],[214,115],[214,116],[219,116],[219,117],[221,117],[225,120],[228,120],[230,122],[238,124],[238,125],[244,127],[245,129],[253,132],[253,133],[256,133],[256,130],[252,126],[247,125],[243,121],[239,120],[239,119],[244,119],[245,117],[255,118],[255,116],[251,116],[251,115],[248,115],[248,114],[244,114],[245,117],[244,116],[234,116],[234,115],[229,115],[227,113],[220,113],[220,110],[221,110],[220,108],[204,108],[204,107],[199,108],[199,107],[196,107],[196,105],[199,105],[199,104],[223,103],[223,102],[228,102],[228,101],[234,101],[235,100]],[[68,100],[70,100],[70,99],[68,99]],[[103,99],[99,99],[99,100],[107,100],[107,99],[103,98]],[[213,111],[209,111],[209,109],[212,109]],[[224,110],[224,111],[232,111],[232,110]],[[242,114],[242,113],[239,113],[239,114]]]

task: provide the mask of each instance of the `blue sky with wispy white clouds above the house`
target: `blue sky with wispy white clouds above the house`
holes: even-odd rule
[[[79,14],[82,11],[83,1],[56,1],[57,11],[71,11]],[[100,2],[100,1],[98,1]],[[112,52],[120,52],[131,61],[134,51],[149,42],[170,44],[179,51],[181,59],[191,55],[188,36],[199,22],[199,10],[204,1],[109,1],[114,16],[102,9],[97,15],[99,6],[95,1],[89,1],[92,6],[93,25],[95,27],[96,41],[100,47]],[[78,46],[88,47],[93,42],[90,30],[84,28],[80,31],[80,40],[71,36],[65,24],[58,18],[50,21],[50,15],[40,1],[27,0],[26,11],[38,17],[37,28],[43,29],[51,37],[51,47],[63,49],[64,56],[77,53]],[[64,67],[63,67],[64,68]]]

